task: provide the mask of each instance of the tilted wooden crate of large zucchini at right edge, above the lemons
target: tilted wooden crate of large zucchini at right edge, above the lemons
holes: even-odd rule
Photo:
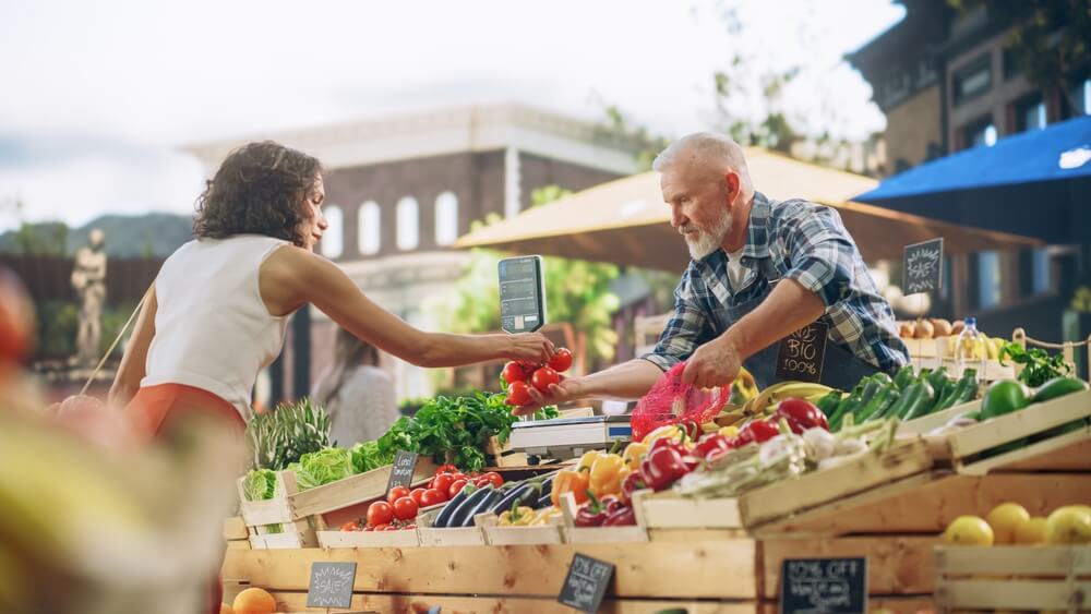
[[[1036,457],[1067,446],[1082,445],[1091,437],[1089,417],[1091,390],[1083,390],[926,440],[937,465],[948,463],[959,473],[980,475],[1015,463],[1022,463],[1027,469],[1031,468],[1028,462],[1032,466]],[[1074,430],[1060,432],[1057,429],[1079,420],[1083,423]],[[1027,437],[1039,441],[1007,452],[997,449]]]

